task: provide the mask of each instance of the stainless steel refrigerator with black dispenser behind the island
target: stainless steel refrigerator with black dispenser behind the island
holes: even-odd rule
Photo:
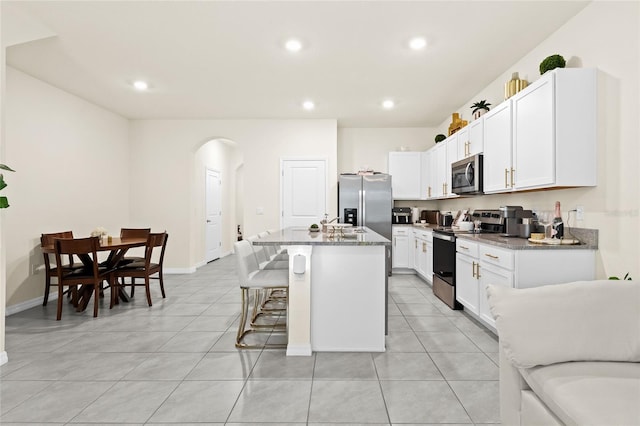
[[[338,178],[338,216],[349,217],[352,225],[366,226],[391,241],[392,208],[391,175],[341,174]],[[391,244],[386,246],[386,252],[388,277],[391,275]],[[387,286],[388,282],[385,283]],[[388,306],[388,299],[385,306]]]

